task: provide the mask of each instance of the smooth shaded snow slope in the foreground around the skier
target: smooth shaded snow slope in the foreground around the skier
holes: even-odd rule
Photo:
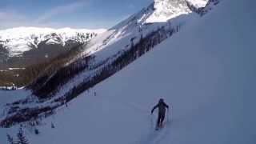
[[[223,1],[46,118],[36,126],[39,135],[23,128],[26,138],[36,144],[254,144],[255,4]],[[154,131],[150,109],[158,98],[170,104],[171,121]],[[17,128],[0,129],[1,142],[7,144],[6,133],[15,138]]]

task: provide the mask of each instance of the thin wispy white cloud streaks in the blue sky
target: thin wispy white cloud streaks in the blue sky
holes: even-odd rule
[[[46,10],[44,14],[39,14],[37,19],[31,19],[25,14],[13,10],[11,8],[0,8],[0,30],[18,27],[18,26],[39,26],[39,27],[55,27],[65,26],[52,20],[62,14],[72,13],[86,6],[88,0],[72,2],[62,6],[55,6],[50,10]]]

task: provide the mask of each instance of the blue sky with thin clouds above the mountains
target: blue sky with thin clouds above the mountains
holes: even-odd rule
[[[153,0],[1,0],[0,29],[110,28]]]

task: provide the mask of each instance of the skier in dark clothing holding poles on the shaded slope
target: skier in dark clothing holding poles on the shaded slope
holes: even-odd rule
[[[162,122],[165,119],[166,108],[169,109],[169,106],[166,105],[162,98],[160,98],[158,104],[154,106],[154,108],[151,110],[151,115],[153,114],[156,108],[158,108],[158,124],[156,127],[156,129],[158,130],[159,127],[162,127]]]

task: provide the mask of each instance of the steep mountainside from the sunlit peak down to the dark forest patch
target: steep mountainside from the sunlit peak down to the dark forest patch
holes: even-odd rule
[[[84,47],[82,54],[67,64],[68,67],[54,75],[43,75],[30,88],[39,98],[63,97],[65,94],[75,97],[78,95],[74,94],[77,93],[75,91],[81,93],[121,70],[158,43],[177,33],[194,17],[198,17],[198,14],[190,10],[186,0],[154,1],[150,6],[94,38]]]

